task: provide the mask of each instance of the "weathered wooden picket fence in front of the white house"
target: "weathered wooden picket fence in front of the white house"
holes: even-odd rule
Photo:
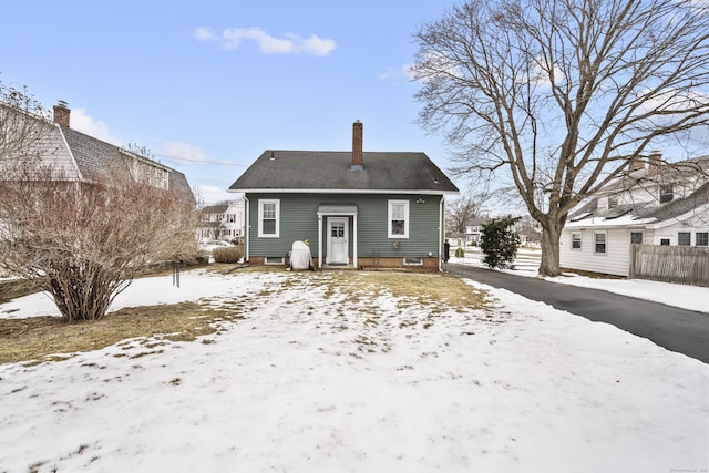
[[[629,276],[709,287],[709,247],[630,245]]]

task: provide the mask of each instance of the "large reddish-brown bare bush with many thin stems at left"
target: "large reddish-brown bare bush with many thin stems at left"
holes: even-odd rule
[[[194,204],[115,174],[101,184],[52,169],[0,182],[0,267],[32,279],[69,321],[101,319],[152,263],[196,254]]]

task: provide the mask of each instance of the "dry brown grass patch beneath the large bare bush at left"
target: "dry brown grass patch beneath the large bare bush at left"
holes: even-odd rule
[[[97,350],[121,340],[156,335],[191,341],[215,332],[212,322],[239,317],[232,311],[182,302],[124,308],[97,321],[71,325],[58,317],[0,319],[0,363],[40,362],[53,353]]]

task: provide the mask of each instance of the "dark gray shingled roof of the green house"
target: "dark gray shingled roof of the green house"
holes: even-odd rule
[[[229,187],[232,192],[359,192],[458,194],[425,153],[265,151]]]

